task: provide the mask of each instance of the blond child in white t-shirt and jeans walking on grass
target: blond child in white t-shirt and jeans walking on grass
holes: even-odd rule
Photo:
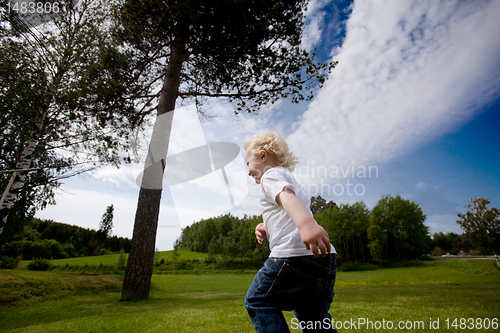
[[[261,185],[264,223],[255,228],[271,254],[245,297],[257,332],[289,332],[282,311],[295,313],[302,332],[337,332],[328,313],[333,298],[335,249],[309,210],[310,199],[291,174],[297,159],[284,138],[264,132],[244,143],[248,174]]]

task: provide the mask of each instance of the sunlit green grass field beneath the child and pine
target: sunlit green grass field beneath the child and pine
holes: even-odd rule
[[[45,288],[24,303],[0,305],[0,331],[253,332],[243,307],[253,274],[153,275],[151,298],[135,303],[119,302],[120,279],[0,270],[2,294]],[[390,332],[401,324],[407,332],[500,331],[492,329],[500,319],[500,271],[490,260],[339,272],[335,292],[331,314],[341,332]],[[285,317],[299,332],[293,314]]]

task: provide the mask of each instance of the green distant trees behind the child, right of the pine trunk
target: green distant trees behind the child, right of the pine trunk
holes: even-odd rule
[[[311,211],[330,235],[340,262],[384,264],[421,258],[426,254],[479,254],[465,235],[429,234],[425,214],[415,202],[384,196],[369,210],[363,202],[336,205],[313,197]],[[183,229],[176,248],[205,252],[212,260],[262,261],[269,245],[257,243],[255,226],[262,216],[230,214],[201,220]]]

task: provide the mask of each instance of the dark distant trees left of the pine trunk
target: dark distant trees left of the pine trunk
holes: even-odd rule
[[[123,237],[103,238],[96,230],[64,223],[31,219],[23,229],[0,243],[0,257],[63,259],[130,251],[131,240]]]

